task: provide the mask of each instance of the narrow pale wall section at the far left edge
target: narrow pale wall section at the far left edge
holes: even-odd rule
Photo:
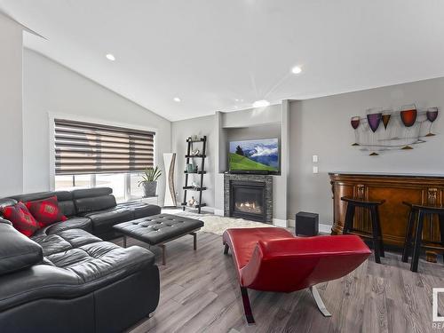
[[[0,197],[23,191],[22,40],[20,25],[0,14]]]

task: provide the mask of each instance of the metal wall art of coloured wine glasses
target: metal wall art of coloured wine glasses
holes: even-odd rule
[[[359,147],[369,155],[397,149],[413,149],[415,145],[433,137],[432,124],[438,118],[438,107],[417,109],[415,104],[399,110],[374,107],[365,117],[351,118],[354,131],[353,147]]]

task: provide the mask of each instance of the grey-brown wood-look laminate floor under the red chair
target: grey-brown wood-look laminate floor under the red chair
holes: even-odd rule
[[[122,244],[120,239],[115,241]],[[146,245],[129,239],[128,246]],[[432,288],[444,288],[442,263],[420,261],[409,271],[400,254],[386,252],[382,265],[370,257],[352,274],[318,286],[332,317],[318,311],[308,290],[290,294],[249,290],[256,325],[247,326],[231,255],[222,239],[199,233],[167,244],[161,265],[161,299],[152,318],[131,333],[156,332],[443,332],[432,328]],[[444,297],[442,297],[444,298]],[[444,299],[439,308],[443,309]]]

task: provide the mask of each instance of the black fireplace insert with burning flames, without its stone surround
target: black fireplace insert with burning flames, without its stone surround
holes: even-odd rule
[[[230,182],[230,216],[266,221],[266,184],[257,181]]]

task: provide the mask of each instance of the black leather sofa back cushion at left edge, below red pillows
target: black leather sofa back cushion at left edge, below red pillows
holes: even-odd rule
[[[0,275],[19,271],[43,260],[43,250],[8,223],[0,223]]]

